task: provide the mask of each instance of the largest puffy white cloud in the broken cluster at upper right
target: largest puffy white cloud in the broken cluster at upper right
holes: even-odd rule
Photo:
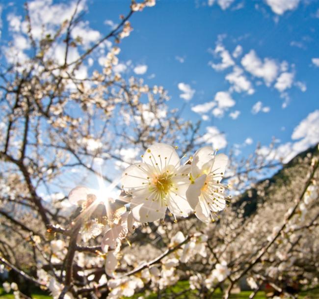
[[[263,62],[254,50],[251,50],[241,59],[241,64],[245,70],[253,76],[263,78],[267,86],[276,79],[278,74],[278,65],[276,61],[265,58]]]

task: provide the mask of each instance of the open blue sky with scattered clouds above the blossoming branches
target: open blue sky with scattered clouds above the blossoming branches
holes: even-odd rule
[[[0,5],[5,41],[8,16],[22,15],[23,1]],[[86,28],[104,35],[130,1],[85,6]],[[118,55],[122,76],[164,86],[170,108],[185,106],[186,119],[203,119],[208,143],[247,155],[274,136],[291,158],[319,142],[318,1],[158,0],[131,23]]]

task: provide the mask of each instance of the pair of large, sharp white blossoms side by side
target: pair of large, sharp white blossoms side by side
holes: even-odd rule
[[[227,163],[226,155],[206,146],[182,165],[172,146],[153,144],[142,155],[142,162],[126,168],[121,178],[134,219],[153,222],[164,218],[168,209],[175,219],[194,212],[203,222],[214,220],[228,200],[227,186],[220,183]]]

